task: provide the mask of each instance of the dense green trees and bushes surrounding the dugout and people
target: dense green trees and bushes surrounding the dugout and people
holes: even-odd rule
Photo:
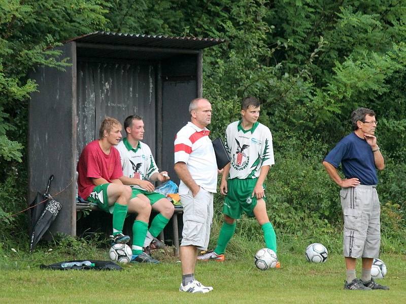
[[[393,242],[383,250],[404,252],[405,0],[0,0],[0,8],[0,216],[17,211],[10,201],[24,201],[26,107],[36,90],[27,70],[64,66],[47,46],[94,30],[212,36],[226,43],[204,55],[211,129],[222,135],[239,119],[242,97],[263,100],[260,120],[273,132],[276,154],[268,207],[280,235],[340,231],[338,188],[321,160],[351,131],[351,111],[365,106],[377,113],[387,164],[379,194],[383,235]]]

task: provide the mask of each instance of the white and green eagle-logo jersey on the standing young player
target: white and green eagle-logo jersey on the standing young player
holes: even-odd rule
[[[256,178],[262,166],[275,164],[272,134],[256,122],[244,130],[241,121],[233,122],[225,131],[225,147],[231,158],[230,178]]]

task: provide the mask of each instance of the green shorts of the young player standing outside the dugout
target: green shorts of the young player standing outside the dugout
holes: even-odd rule
[[[258,178],[229,179],[227,181],[228,192],[224,199],[223,214],[239,219],[241,214],[245,212],[249,217],[254,217],[257,198],[251,195],[257,180]]]

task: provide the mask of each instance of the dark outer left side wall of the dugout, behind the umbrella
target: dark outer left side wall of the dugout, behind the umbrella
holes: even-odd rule
[[[44,193],[53,174],[50,194],[62,204],[51,233],[76,234],[76,49],[75,42],[59,48],[72,64],[61,72],[38,68],[30,75],[38,91],[29,102],[28,201]]]

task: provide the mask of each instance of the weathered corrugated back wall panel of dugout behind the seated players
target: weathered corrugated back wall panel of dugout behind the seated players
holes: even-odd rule
[[[78,152],[98,138],[105,116],[124,124],[129,115],[143,117],[144,142],[155,151],[155,83],[153,64],[78,62]],[[125,137],[125,131],[122,131]]]

